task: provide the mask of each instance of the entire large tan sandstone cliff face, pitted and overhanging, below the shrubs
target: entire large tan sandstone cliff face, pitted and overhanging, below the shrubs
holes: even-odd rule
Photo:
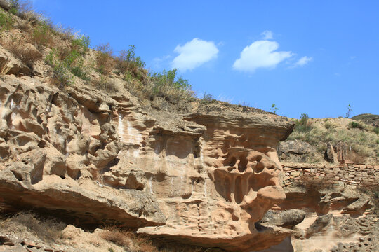
[[[276,152],[293,128],[286,118],[194,109],[157,120],[126,92],[0,81],[6,202],[231,251],[267,248],[291,233],[255,225],[286,196]]]

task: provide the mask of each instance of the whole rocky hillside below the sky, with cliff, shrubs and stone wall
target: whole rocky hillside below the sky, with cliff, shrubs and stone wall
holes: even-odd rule
[[[0,0],[0,251],[378,249],[378,127],[204,95]],[[369,117],[371,118],[371,116]]]

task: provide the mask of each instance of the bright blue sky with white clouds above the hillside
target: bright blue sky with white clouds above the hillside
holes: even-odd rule
[[[199,97],[293,118],[379,113],[379,1],[33,2],[93,47],[178,68]]]

